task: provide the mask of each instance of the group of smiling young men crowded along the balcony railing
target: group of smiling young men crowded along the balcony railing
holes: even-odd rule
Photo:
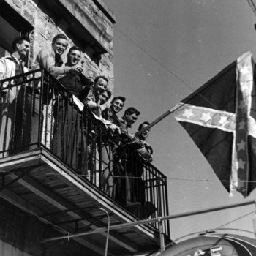
[[[19,37],[15,39],[12,48],[13,52],[10,56],[0,59],[0,80],[22,75],[29,71],[24,67],[24,59],[30,48],[29,38]],[[124,115],[119,118],[118,113],[123,110],[126,98],[113,96],[112,91],[108,88],[108,78],[104,75],[99,75],[96,78],[85,78],[80,75],[83,71],[82,51],[77,46],[69,48],[67,63],[64,64],[62,56],[67,48],[67,37],[64,34],[56,35],[50,48],[42,48],[37,53],[31,70],[45,69],[50,75],[59,80],[64,89],[80,99],[86,110],[91,110],[105,124],[108,132],[112,135],[111,138],[113,138],[115,146],[111,149],[110,145],[105,143],[101,147],[102,162],[105,162],[105,165],[110,165],[108,168],[104,168],[104,166],[102,168],[104,170],[101,177],[102,190],[111,196],[118,193],[118,196],[121,196],[120,200],[123,200],[128,208],[138,207],[142,199],[139,198],[141,196],[138,195],[138,192],[135,192],[134,187],[136,183],[140,183],[143,166],[137,166],[136,173],[131,167],[124,168],[127,172],[124,173],[126,179],[120,182],[121,188],[119,189],[125,187],[126,192],[122,195],[118,189],[114,192],[113,161],[106,156],[109,151],[114,156],[116,152],[120,153],[123,148],[132,148],[144,161],[151,162],[153,150],[146,141],[149,129],[138,136],[129,133],[128,129],[135,124],[140,112],[136,108],[129,107],[124,111]],[[38,80],[37,83],[33,83],[33,88],[26,85],[18,90],[17,86],[13,86],[8,89],[7,93],[7,83],[1,83],[0,157],[18,153],[17,148],[22,145],[30,146],[28,148],[23,147],[23,151],[31,149],[31,145],[37,142],[39,137],[38,127],[42,125],[39,124],[40,100],[43,99],[43,103],[47,104],[47,96],[41,97],[43,86],[41,81]],[[103,109],[102,105],[110,99],[110,107]],[[56,95],[54,101],[51,151],[57,157],[64,155],[67,165],[76,169],[78,165],[74,159],[78,158],[78,152],[74,148],[83,147],[83,141],[86,140],[83,132],[76,132],[81,127],[80,119],[77,118],[78,112],[72,111],[72,105],[66,104],[64,94]],[[74,120],[76,120],[75,124]],[[23,129],[20,129],[20,124],[23,124]],[[146,121],[140,124],[138,132],[145,129],[148,124]],[[69,127],[72,127],[72,129],[69,129]],[[64,132],[59,132],[63,130]],[[12,146],[10,140],[14,142]],[[61,147],[59,146],[60,141],[63,144]],[[86,156],[80,156],[80,161],[78,161],[80,170],[83,166],[86,166],[85,159]],[[120,165],[129,165],[129,161]]]

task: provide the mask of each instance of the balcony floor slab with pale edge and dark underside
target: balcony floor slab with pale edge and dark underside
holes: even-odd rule
[[[0,159],[0,196],[52,225],[63,235],[138,221],[108,195],[78,176],[45,148]],[[61,236],[61,235],[60,235]],[[104,255],[106,233],[73,238],[96,255]],[[170,239],[165,237],[165,243]],[[159,233],[150,225],[110,230],[108,255],[132,255],[159,249]]]

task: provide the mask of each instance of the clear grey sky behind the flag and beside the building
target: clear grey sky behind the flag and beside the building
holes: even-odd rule
[[[246,0],[104,2],[117,20],[114,94],[127,97],[124,110],[133,106],[141,112],[130,132],[173,108],[246,51],[256,58],[256,16]],[[255,199],[256,190],[246,199],[228,194],[172,115],[151,129],[148,143],[153,165],[167,176],[170,215]],[[174,219],[171,238],[221,226],[253,231],[255,211],[251,205]]]

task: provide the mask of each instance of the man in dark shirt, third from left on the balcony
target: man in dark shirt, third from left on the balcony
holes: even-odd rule
[[[65,67],[74,67],[81,60],[82,52],[77,46],[73,46],[67,53],[67,63]],[[58,77],[64,89],[56,95],[53,107],[54,127],[51,150],[58,157],[62,157],[64,162],[79,172],[85,166],[85,150],[83,149],[83,134],[78,108],[72,104],[70,97],[80,97],[80,92],[86,85],[86,78],[78,72],[72,72]]]

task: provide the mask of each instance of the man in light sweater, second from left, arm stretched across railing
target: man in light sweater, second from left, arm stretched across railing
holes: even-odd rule
[[[67,49],[67,45],[67,37],[64,34],[56,35],[56,37],[53,38],[50,48],[42,48],[42,50],[39,50],[32,70],[45,69],[54,77],[73,72],[81,72],[83,69],[81,64],[76,64],[72,67],[65,67],[63,65],[61,56]],[[41,72],[36,72],[34,78],[39,78],[41,75]],[[33,83],[29,83],[29,86],[26,86],[20,90],[18,95],[18,104],[20,105],[21,109],[24,109],[24,129],[22,138],[23,151],[36,148],[38,143],[40,143],[38,141],[39,131],[42,134],[42,126],[39,127],[40,94],[43,94],[41,104],[47,104],[50,98],[48,91],[51,90],[49,85],[47,86],[47,88],[42,87],[40,79],[38,79]],[[43,122],[41,120],[41,124],[42,123]]]

